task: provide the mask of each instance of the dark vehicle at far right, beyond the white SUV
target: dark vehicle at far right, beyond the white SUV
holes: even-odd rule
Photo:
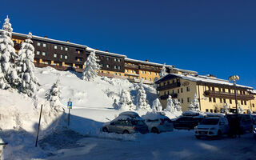
[[[226,114],[226,118],[229,123],[233,123],[234,119],[237,118],[240,122],[240,133],[245,134],[246,131],[250,133],[253,131],[253,121],[250,114]]]

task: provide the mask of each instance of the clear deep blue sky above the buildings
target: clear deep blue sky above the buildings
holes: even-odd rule
[[[2,0],[14,31],[70,40],[256,88],[256,1]],[[0,24],[2,26],[2,23]]]

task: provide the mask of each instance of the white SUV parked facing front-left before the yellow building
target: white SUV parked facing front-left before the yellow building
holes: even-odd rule
[[[194,127],[196,138],[201,137],[221,137],[222,134],[229,133],[229,122],[224,117],[205,118]]]

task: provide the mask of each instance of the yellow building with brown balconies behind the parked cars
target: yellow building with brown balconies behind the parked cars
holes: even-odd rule
[[[230,107],[230,112],[235,112],[233,83],[213,75],[167,74],[155,83],[163,108],[166,108],[167,98],[171,95],[172,98],[178,99],[183,111],[188,110],[196,94],[199,109],[203,112],[221,112],[226,104]],[[252,102],[255,103],[255,95],[250,94],[248,90],[253,88],[237,85],[238,106],[241,105],[245,113],[249,108],[256,111],[255,105],[252,105]]]

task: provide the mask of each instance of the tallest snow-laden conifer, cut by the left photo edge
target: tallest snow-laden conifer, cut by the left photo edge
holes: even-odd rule
[[[8,89],[18,84],[18,76],[14,65],[14,59],[18,58],[14,50],[14,42],[11,40],[13,29],[10,19],[5,19],[0,36],[0,88]]]

